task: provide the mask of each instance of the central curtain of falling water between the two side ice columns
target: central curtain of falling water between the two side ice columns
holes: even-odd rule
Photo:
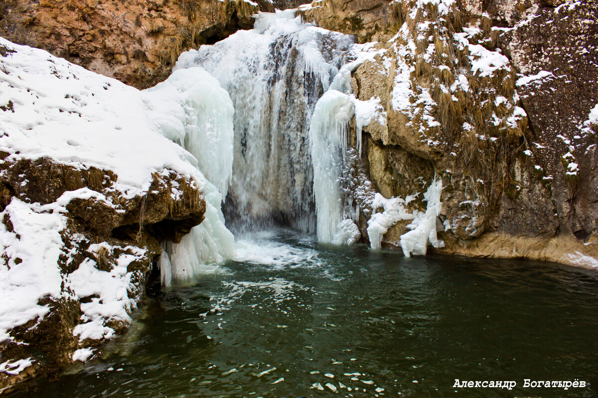
[[[351,36],[304,24],[294,10],[260,13],[253,30],[179,57],[175,70],[200,66],[234,104],[233,178],[228,226],[237,232],[290,226],[316,229],[309,127]]]

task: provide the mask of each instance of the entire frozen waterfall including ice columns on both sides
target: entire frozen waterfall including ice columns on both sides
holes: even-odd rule
[[[171,112],[175,121],[156,122],[195,156],[208,180],[206,220],[181,243],[164,246],[164,285],[234,257],[223,202],[235,232],[287,226],[317,232],[320,242],[359,239],[358,209],[340,177],[353,117],[358,153],[361,129],[374,118],[385,122],[379,99],[352,94],[351,73],[371,53],[352,36],[305,24],[294,13],[260,13],[254,29],[181,54],[172,76],[147,91],[148,101],[176,96],[182,109]],[[368,233],[381,236],[382,218],[382,227]]]

